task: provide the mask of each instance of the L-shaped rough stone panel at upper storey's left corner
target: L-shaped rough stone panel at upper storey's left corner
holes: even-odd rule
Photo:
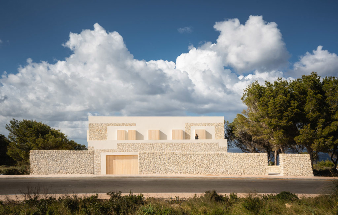
[[[88,140],[107,140],[108,126],[135,126],[135,123],[89,123]]]

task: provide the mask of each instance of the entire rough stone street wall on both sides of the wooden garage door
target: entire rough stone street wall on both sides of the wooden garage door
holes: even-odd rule
[[[133,152],[127,145],[124,147]],[[194,146],[192,150],[196,150]],[[30,174],[100,174],[102,152],[118,151],[92,147],[89,151],[31,150]],[[267,166],[266,153],[138,151],[138,154],[139,174],[266,175],[279,170],[285,176],[313,176],[309,154],[280,154],[279,166]]]

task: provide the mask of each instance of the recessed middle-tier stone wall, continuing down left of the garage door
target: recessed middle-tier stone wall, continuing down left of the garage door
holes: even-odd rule
[[[177,151],[177,152],[227,152],[227,147],[219,147],[218,142],[190,143],[117,143],[117,149],[94,149],[94,174],[101,174],[102,152],[139,152],[139,151]]]

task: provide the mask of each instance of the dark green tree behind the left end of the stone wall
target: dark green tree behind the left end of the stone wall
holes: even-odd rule
[[[33,120],[13,119],[6,125],[9,131],[7,154],[17,162],[29,162],[30,150],[86,150],[86,146],[68,140],[50,126]]]

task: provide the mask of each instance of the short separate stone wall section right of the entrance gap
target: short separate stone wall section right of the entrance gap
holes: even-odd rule
[[[309,154],[279,154],[281,175],[313,176]]]

